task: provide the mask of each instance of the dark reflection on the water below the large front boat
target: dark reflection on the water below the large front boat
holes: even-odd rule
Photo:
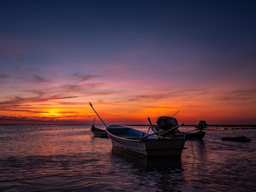
[[[112,160],[119,162],[119,166],[130,172],[128,177],[126,176],[129,181],[137,178],[136,182],[139,181],[141,186],[154,186],[153,188],[163,191],[180,190],[179,185],[182,180],[180,159],[147,159],[113,147]]]

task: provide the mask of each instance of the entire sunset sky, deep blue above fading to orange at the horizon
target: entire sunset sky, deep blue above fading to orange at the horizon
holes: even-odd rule
[[[0,124],[256,124],[254,0],[0,0]]]

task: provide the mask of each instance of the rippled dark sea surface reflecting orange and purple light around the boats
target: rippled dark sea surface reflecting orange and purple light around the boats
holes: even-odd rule
[[[181,159],[147,160],[112,148],[90,127],[0,125],[0,191],[256,191],[256,129],[208,127],[204,141],[186,141]],[[148,126],[133,128],[147,132]]]

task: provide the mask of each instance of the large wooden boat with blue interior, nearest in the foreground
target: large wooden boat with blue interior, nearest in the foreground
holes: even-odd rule
[[[163,138],[121,125],[110,125],[106,132],[113,147],[147,157],[180,157],[186,141],[184,137]]]

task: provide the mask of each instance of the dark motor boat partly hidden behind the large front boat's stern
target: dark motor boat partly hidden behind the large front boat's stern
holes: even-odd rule
[[[158,135],[159,136],[165,136],[165,137],[186,137],[189,140],[202,140],[204,138],[204,135],[206,132],[203,132],[201,129],[206,128],[207,123],[205,121],[200,121],[197,125],[198,132],[180,132],[178,129],[174,129],[173,132],[168,132],[167,134],[164,133],[166,129],[171,129],[172,127],[176,127],[178,125],[177,119],[173,117],[167,117],[167,116],[162,116],[157,118],[157,125],[153,126],[150,118],[148,118],[148,121],[150,123],[150,128],[153,132],[158,132],[159,130],[162,130]],[[199,126],[200,125],[200,126]],[[149,129],[150,129],[149,128]]]

